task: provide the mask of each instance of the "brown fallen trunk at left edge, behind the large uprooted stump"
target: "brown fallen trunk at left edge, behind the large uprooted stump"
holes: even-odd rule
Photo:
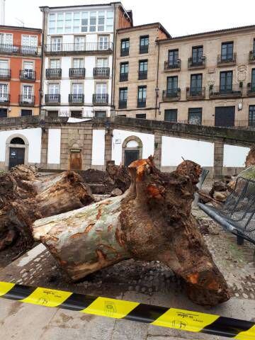
[[[21,165],[1,174],[0,183],[0,250],[18,236],[25,249],[33,244],[31,225],[38,218],[94,202],[90,189],[72,171],[39,176],[33,168]]]

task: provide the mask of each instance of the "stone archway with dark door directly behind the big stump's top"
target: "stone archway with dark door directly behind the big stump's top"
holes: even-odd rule
[[[142,140],[136,136],[129,136],[123,142],[122,163],[125,166],[142,158]]]

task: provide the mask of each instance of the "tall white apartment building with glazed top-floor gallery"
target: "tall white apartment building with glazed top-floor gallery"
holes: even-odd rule
[[[41,7],[42,114],[103,117],[111,113],[115,30],[132,26],[120,2]]]

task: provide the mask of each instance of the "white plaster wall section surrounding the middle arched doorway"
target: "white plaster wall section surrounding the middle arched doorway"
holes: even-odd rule
[[[154,135],[127,130],[113,130],[112,159],[117,165],[122,163],[123,142],[130,136],[139,137],[142,140],[142,158],[154,154]]]

